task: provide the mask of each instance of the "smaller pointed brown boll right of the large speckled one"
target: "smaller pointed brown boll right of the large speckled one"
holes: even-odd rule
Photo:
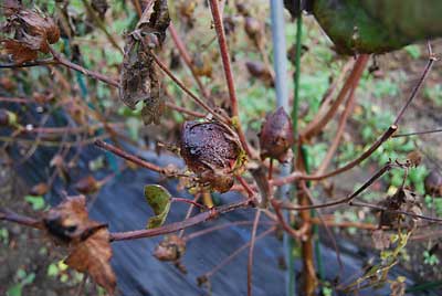
[[[267,115],[260,133],[261,158],[286,162],[293,156],[291,148],[294,142],[292,119],[284,108]]]

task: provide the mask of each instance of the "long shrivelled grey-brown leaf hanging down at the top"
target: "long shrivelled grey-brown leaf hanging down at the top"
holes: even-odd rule
[[[165,110],[161,84],[151,51],[158,50],[166,38],[170,18],[167,1],[155,1],[146,8],[134,32],[126,36],[120,73],[119,98],[131,109],[144,102],[141,117],[146,125],[159,124]]]

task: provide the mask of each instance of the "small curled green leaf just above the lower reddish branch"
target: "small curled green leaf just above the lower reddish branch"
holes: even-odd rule
[[[147,228],[155,229],[161,226],[170,210],[171,195],[169,191],[159,184],[149,184],[145,187],[145,198],[156,214],[149,219]]]

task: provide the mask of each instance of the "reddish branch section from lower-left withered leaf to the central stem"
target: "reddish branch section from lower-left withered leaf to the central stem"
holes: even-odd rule
[[[197,214],[197,215],[186,219],[183,221],[170,223],[170,224],[167,224],[167,225],[164,225],[160,228],[156,228],[156,229],[136,230],[136,231],[127,231],[127,232],[114,232],[114,233],[110,233],[110,241],[137,240],[137,239],[151,237],[151,236],[158,236],[158,235],[162,235],[162,234],[177,232],[177,231],[200,224],[208,220],[212,220],[220,214],[224,214],[224,213],[234,211],[236,209],[246,208],[246,207],[250,207],[249,200],[230,203],[230,204],[222,205],[219,208],[213,208],[207,212],[202,212],[200,214]]]

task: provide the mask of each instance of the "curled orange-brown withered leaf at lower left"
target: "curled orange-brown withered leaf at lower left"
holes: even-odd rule
[[[44,214],[43,226],[55,243],[66,245],[65,263],[114,294],[116,277],[109,264],[112,249],[107,225],[91,220],[84,195],[71,197]]]

